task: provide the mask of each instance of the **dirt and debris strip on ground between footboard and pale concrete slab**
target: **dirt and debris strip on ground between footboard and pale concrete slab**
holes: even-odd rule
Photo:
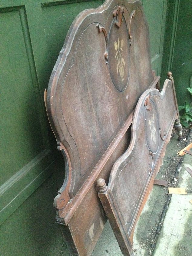
[[[161,166],[156,177],[169,183],[163,188],[162,186],[154,185],[157,187],[154,188],[153,195],[149,197],[149,212],[144,212],[138,221],[136,230],[137,255],[151,256],[153,254],[171,199],[171,195],[168,194],[168,187],[177,187],[180,182],[177,176],[181,169],[183,156],[177,156],[177,153],[191,143],[192,129],[183,128],[182,134],[182,139],[178,140],[177,131],[173,128],[163,166]],[[146,219],[147,223],[144,224]],[[143,225],[146,225],[146,227],[143,228]],[[141,228],[138,228],[139,226]],[[139,249],[139,246],[141,249]]]

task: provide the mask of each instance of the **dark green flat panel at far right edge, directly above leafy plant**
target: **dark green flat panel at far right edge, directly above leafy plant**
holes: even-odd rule
[[[174,76],[178,105],[189,100],[192,76],[192,1],[179,1],[171,71]]]

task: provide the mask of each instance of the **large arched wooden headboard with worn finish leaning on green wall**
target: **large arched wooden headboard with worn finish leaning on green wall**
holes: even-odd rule
[[[106,215],[96,181],[108,182],[129,145],[137,101],[158,81],[140,1],[108,0],[74,20],[51,74],[47,112],[66,171],[56,221],[67,226],[76,255],[90,255],[101,234]]]

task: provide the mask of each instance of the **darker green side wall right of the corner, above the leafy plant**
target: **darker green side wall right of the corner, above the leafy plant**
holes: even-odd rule
[[[178,105],[184,105],[192,76],[192,1],[170,0],[167,14],[161,77],[172,72]]]

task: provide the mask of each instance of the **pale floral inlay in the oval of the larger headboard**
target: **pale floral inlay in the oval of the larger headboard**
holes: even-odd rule
[[[123,43],[124,40],[122,39],[121,41],[119,40],[118,37],[118,42],[114,42],[114,47],[115,47],[115,59],[117,59],[117,73],[121,77],[121,81],[124,81],[124,67],[125,67],[125,61],[123,58]]]

